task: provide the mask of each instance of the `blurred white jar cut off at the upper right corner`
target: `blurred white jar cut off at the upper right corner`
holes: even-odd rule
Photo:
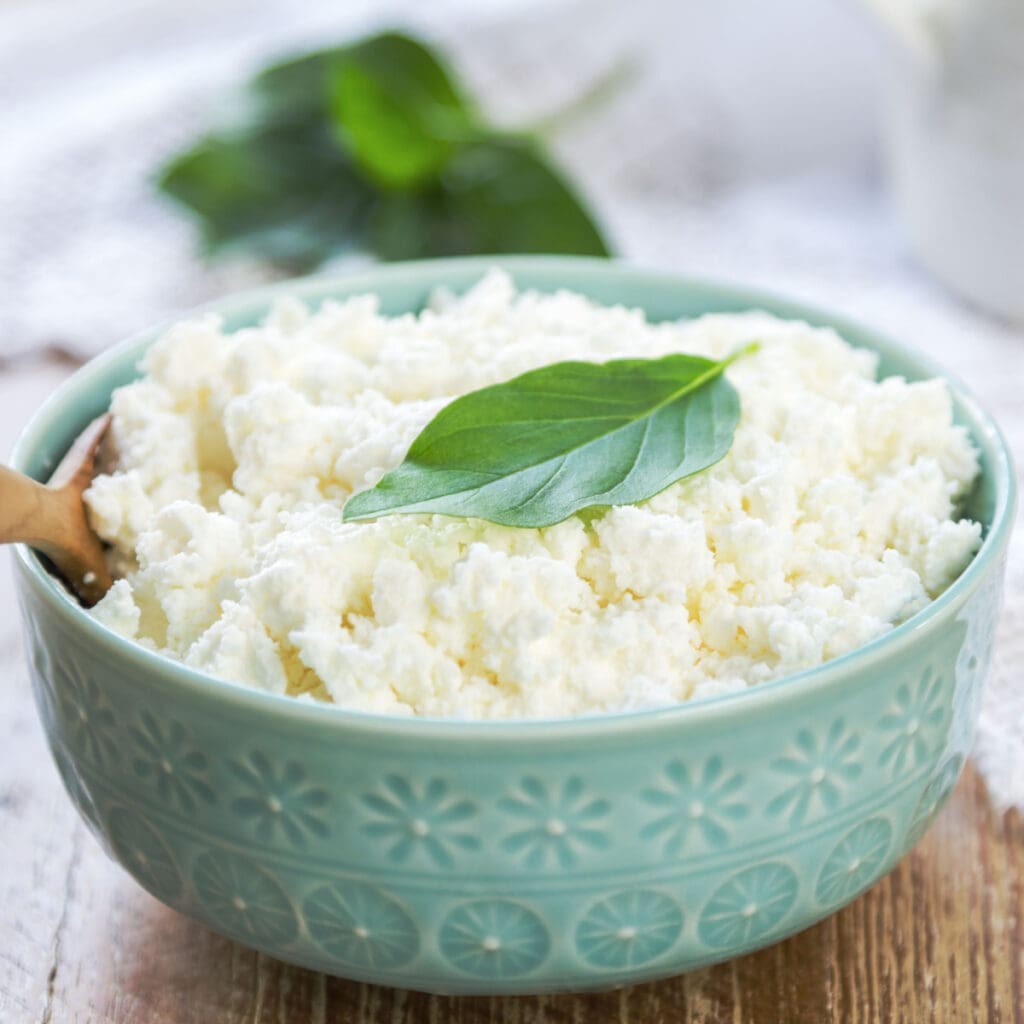
[[[899,37],[886,103],[897,208],[922,262],[1024,322],[1024,0],[867,0]]]

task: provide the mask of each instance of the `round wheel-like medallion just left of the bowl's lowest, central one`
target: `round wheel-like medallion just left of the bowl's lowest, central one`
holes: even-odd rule
[[[352,967],[391,970],[408,964],[420,948],[413,919],[397,900],[373,886],[321,886],[302,911],[316,945]]]

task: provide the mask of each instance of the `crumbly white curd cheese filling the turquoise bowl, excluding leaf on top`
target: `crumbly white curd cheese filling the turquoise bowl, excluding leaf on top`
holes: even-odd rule
[[[547,529],[342,522],[456,395],[752,339],[728,456],[643,505]],[[365,296],[233,334],[181,324],[114,396],[86,500],[122,579],[95,615],[214,676],[400,715],[574,716],[807,669],[918,611],[979,543],[955,517],[978,464],[946,386],[876,364],[803,323],[649,324],[499,272],[418,316]]]

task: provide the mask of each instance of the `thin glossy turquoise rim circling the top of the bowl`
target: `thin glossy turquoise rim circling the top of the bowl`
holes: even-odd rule
[[[65,626],[82,634],[104,653],[127,663],[138,672],[163,677],[168,684],[180,687],[182,694],[193,694],[206,701],[220,702],[234,710],[248,710],[255,714],[272,714],[275,721],[300,727],[338,728],[370,735],[395,735],[412,738],[435,738],[451,741],[455,736],[476,739],[516,739],[603,737],[623,732],[643,730],[657,725],[682,726],[685,723],[701,724],[721,717],[748,717],[761,714],[766,705],[787,703],[802,700],[821,690],[842,685],[848,671],[860,672],[871,666],[899,655],[914,645],[923,632],[936,626],[937,621],[951,606],[966,600],[980,586],[992,561],[1006,549],[1013,528],[1017,505],[1017,481],[1013,460],[1006,439],[992,417],[985,412],[969,388],[953,374],[934,362],[910,346],[889,338],[874,328],[860,324],[843,314],[791,299],[785,295],[751,288],[743,284],[722,280],[709,280],[685,273],[648,268],[643,265],[615,259],[572,256],[473,256],[445,259],[410,260],[380,264],[366,270],[313,274],[276,282],[260,288],[248,289],[205,303],[163,321],[144,331],[136,332],[124,341],[105,349],[75,371],[39,407],[22,430],[11,454],[11,465],[24,471],[25,463],[37,445],[45,438],[50,418],[66,402],[75,399],[77,392],[88,387],[90,381],[102,377],[114,366],[120,366],[129,353],[143,350],[171,325],[208,313],[230,316],[253,306],[268,306],[274,299],[291,296],[299,299],[327,298],[327,293],[344,289],[349,295],[374,291],[381,278],[410,283],[424,279],[430,287],[437,287],[435,280],[445,270],[483,274],[499,268],[515,276],[517,271],[546,271],[562,273],[568,278],[592,274],[606,275],[635,284],[651,283],[677,286],[691,292],[698,291],[711,299],[735,302],[740,300],[750,309],[768,307],[784,309],[774,313],[787,318],[806,319],[834,328],[841,335],[849,332],[869,341],[868,347],[881,352],[893,352],[912,362],[915,370],[929,377],[944,380],[954,400],[972,421],[974,442],[986,455],[987,472],[995,488],[991,522],[981,547],[966,568],[937,598],[888,633],[866,644],[839,655],[829,662],[799,673],[759,683],[745,690],[699,697],[679,705],[610,713],[596,713],[575,718],[538,719],[459,719],[427,716],[400,716],[379,712],[357,711],[334,703],[302,700],[285,694],[269,693],[243,683],[220,679],[175,662],[165,654],[127,640],[102,626],[81,607],[63,587],[45,569],[35,552],[26,545],[14,546],[15,564],[48,609]],[[526,286],[527,288],[536,286]],[[567,281],[565,289],[571,289]],[[864,347],[862,342],[850,342]],[[873,346],[878,343],[878,348]],[[26,612],[26,614],[28,614]]]

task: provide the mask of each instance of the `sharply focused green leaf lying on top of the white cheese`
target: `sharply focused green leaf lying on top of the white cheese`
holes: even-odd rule
[[[674,354],[556,362],[456,398],[404,461],[345,505],[346,520],[397,512],[550,526],[632,505],[718,462],[739,396],[721,361]]]

